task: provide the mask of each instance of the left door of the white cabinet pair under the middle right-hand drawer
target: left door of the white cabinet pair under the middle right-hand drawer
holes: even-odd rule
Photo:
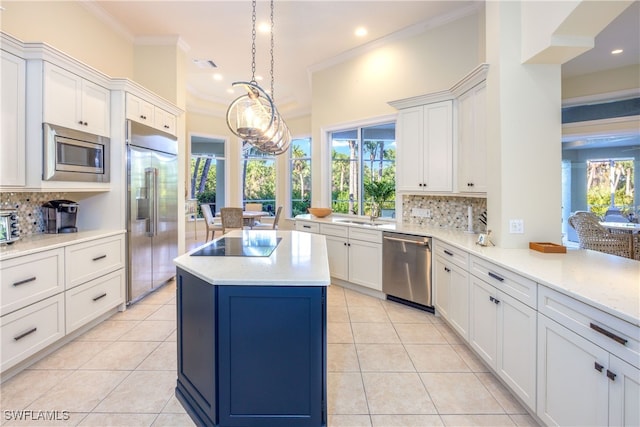
[[[496,368],[498,309],[496,289],[471,276],[469,343],[493,369]]]

